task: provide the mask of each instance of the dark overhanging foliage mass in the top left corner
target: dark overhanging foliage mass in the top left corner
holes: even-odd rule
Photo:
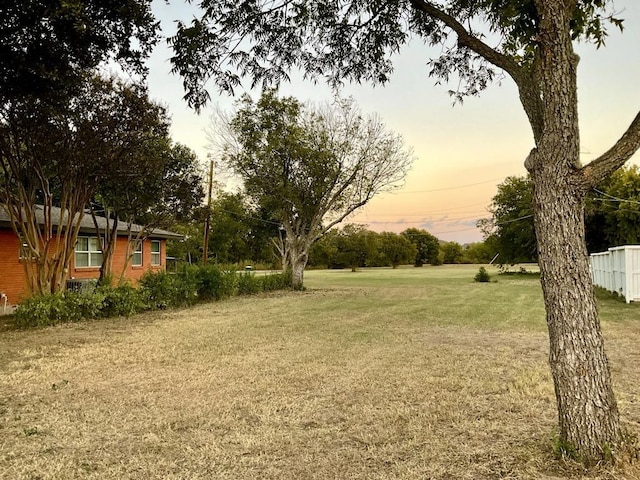
[[[4,1],[0,18],[0,103],[64,102],[109,60],[144,73],[158,40],[151,0]]]

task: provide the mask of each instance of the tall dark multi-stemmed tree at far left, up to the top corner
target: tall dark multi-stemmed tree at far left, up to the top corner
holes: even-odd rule
[[[5,1],[0,18],[0,197],[34,258],[25,262],[32,288],[56,291],[100,177],[95,164],[119,131],[117,123],[105,131],[100,108],[111,102],[117,116],[121,105],[108,99],[95,69],[115,61],[144,74],[158,23],[151,0]],[[41,229],[36,202],[43,205]],[[54,203],[62,207],[57,229]]]

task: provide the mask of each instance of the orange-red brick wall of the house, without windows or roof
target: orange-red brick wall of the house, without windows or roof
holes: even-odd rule
[[[119,237],[113,255],[113,279],[118,281],[124,266],[127,251],[127,238]],[[22,261],[18,258],[19,244],[13,231],[0,229],[0,292],[4,292],[9,303],[15,305],[29,295],[29,289],[24,273]],[[151,240],[145,240],[142,244],[142,266],[134,267],[129,263],[125,270],[125,277],[135,284],[147,271],[164,270],[166,255],[166,241],[160,241],[159,266],[151,266]],[[69,267],[68,278],[98,278],[100,269],[95,267],[75,267],[72,259]],[[0,303],[0,307],[2,303]]]

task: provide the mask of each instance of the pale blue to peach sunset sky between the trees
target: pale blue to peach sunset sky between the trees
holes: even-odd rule
[[[624,32],[610,27],[604,48],[575,47],[581,58],[583,163],[611,147],[640,109],[640,2],[616,0],[615,6],[625,19]],[[180,0],[170,5],[153,2],[165,36],[175,31],[175,20],[193,18],[195,8]],[[416,158],[401,189],[375,197],[346,222],[366,224],[375,231],[424,228],[441,240],[462,244],[481,241],[476,222],[489,216],[487,208],[497,185],[508,176],[526,174],[524,160],[533,147],[531,129],[509,78],[454,106],[447,91],[455,85],[436,85],[428,76],[427,62],[434,54],[436,50],[414,41],[392,57],[394,74],[388,84],[347,84],[341,91],[342,96],[352,96],[364,113],[380,115],[389,130],[404,137]],[[212,108],[217,104],[229,110],[234,99],[212,87],[212,107],[196,114],[182,99],[182,81],[171,74],[170,56],[162,42],[149,59],[150,95],[168,107],[174,141],[193,149],[204,165],[210,153],[206,129]],[[235,93],[239,96],[244,90]],[[281,85],[280,93],[312,102],[333,95],[327,86],[301,79]],[[640,165],[640,155],[629,163]]]

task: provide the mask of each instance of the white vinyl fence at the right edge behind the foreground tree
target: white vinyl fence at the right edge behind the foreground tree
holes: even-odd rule
[[[594,285],[640,302],[640,245],[613,247],[591,255]]]

